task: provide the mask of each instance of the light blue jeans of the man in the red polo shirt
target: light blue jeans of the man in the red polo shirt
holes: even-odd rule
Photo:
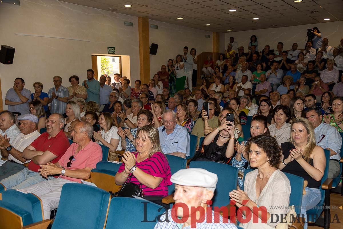
[[[55,179],[53,176],[48,176],[48,180]],[[31,171],[27,168],[9,176],[0,181],[6,189],[26,188],[28,186],[37,184],[47,179],[43,178],[39,173]]]

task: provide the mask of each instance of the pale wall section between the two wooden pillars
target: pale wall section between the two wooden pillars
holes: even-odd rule
[[[149,20],[149,26],[151,24],[158,25],[158,29],[149,27],[150,44],[158,44],[156,56],[150,55],[151,78],[161,71],[161,65],[167,65],[168,59],[183,55],[185,46],[188,46],[188,53],[191,48],[195,48],[197,55],[213,51],[212,32]],[[205,35],[211,38],[205,38]]]

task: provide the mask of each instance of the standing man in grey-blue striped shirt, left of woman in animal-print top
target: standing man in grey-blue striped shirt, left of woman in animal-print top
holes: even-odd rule
[[[54,76],[54,85],[48,91],[50,111],[51,113],[66,113],[66,106],[69,97],[69,92],[66,87],[62,85],[62,78],[60,76]]]

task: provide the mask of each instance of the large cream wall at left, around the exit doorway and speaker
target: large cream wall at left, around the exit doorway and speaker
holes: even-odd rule
[[[56,0],[21,0],[20,3],[20,6],[0,4],[0,43],[16,49],[13,65],[0,64],[3,101],[15,77],[24,78],[25,88],[31,91],[32,83],[42,82],[45,92],[53,87],[55,75],[63,78],[65,87],[70,86],[71,75],[78,75],[83,81],[86,70],[92,68],[91,55],[107,54],[107,46],[115,47],[119,55],[130,56],[132,78],[139,79],[137,17]],[[124,26],[124,21],[131,21],[134,26]]]

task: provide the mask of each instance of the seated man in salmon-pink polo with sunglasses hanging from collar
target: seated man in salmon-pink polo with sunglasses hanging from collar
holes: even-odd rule
[[[82,179],[88,179],[96,163],[102,160],[101,147],[92,141],[92,135],[93,126],[90,123],[76,124],[72,132],[74,143],[60,160],[40,165],[39,171],[43,177],[55,174],[59,174],[59,177],[25,188],[42,199],[45,219],[50,219],[50,211],[58,208],[63,184],[81,183]]]

